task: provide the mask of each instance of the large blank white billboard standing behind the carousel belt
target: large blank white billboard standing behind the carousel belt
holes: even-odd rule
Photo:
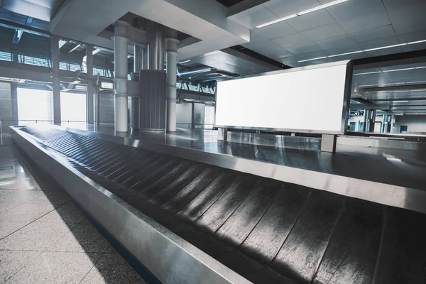
[[[215,125],[342,133],[348,62],[217,82]]]

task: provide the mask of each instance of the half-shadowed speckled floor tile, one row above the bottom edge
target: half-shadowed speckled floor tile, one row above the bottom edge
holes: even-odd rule
[[[104,253],[109,242],[89,221],[84,221],[73,228],[70,233],[50,246],[48,251],[70,251],[86,253]]]

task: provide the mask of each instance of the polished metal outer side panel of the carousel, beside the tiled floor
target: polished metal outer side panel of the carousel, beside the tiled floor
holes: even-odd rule
[[[163,283],[249,283],[87,178],[69,160],[12,128],[13,141]]]

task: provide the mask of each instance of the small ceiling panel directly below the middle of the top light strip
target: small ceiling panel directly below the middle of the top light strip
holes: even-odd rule
[[[290,26],[295,28],[297,31],[306,31],[311,28],[317,28],[320,26],[327,26],[332,23],[336,23],[334,18],[330,16],[325,10],[319,10],[312,13],[307,13],[296,18],[290,18],[286,21]]]

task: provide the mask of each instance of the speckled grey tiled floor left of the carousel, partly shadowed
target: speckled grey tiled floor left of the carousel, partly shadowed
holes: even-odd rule
[[[144,281],[65,192],[37,182],[6,145],[0,146],[0,283]]]

